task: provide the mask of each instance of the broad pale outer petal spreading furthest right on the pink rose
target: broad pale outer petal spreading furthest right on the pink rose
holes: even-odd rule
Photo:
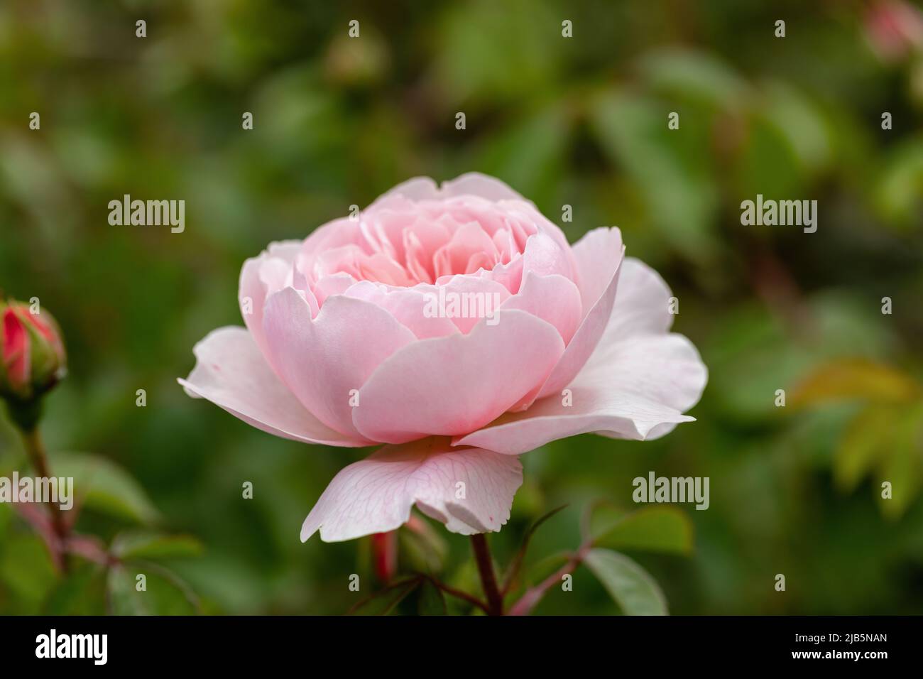
[[[621,275],[604,338],[568,385],[570,406],[563,405],[560,394],[551,395],[527,412],[505,415],[452,443],[519,455],[587,431],[650,440],[692,421],[682,411],[699,401],[708,372],[688,339],[657,332],[670,291],[639,261],[631,261]]]

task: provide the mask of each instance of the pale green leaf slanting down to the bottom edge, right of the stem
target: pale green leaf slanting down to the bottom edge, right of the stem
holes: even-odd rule
[[[624,554],[591,550],[583,563],[626,615],[666,615],[666,599],[653,577]]]

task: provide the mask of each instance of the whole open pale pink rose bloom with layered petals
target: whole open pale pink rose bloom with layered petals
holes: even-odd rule
[[[705,366],[668,332],[669,288],[624,251],[617,228],[570,247],[493,177],[411,179],[247,260],[246,329],[206,336],[179,382],[277,436],[386,444],[336,475],[302,540],[393,530],[414,505],[452,532],[498,530],[522,453],[587,431],[650,440],[693,419]],[[440,288],[484,313],[433,313]]]

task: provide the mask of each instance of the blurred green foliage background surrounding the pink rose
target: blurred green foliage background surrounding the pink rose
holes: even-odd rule
[[[5,0],[0,285],[40,297],[64,329],[70,375],[42,429],[53,451],[92,451],[53,464],[92,474],[78,529],[114,540],[126,565],[62,580],[0,505],[0,612],[354,606],[350,574],[374,578],[367,540],[302,544],[298,529],[364,453],[273,438],[175,378],[198,339],[240,324],[240,266],[270,240],[410,176],[469,170],[557,222],[572,205],[572,241],[620,226],[629,255],[672,285],[675,327],[711,374],[698,421],[662,440],[583,435],[524,455],[512,518],[490,536],[499,563],[551,507],[569,503],[534,537],[527,572],[576,548],[594,500],[634,508],[631,479],[708,476],[710,508],[682,507],[688,555],[646,552],[653,528],[628,531],[630,558],[596,555],[614,596],[645,587],[641,564],[673,613],[921,612],[923,56],[875,38],[881,7]],[[185,233],[107,224],[126,193],[186,200]],[[818,200],[818,232],[742,226],[757,193]],[[21,455],[0,422],[0,467]],[[478,592],[467,540],[431,528],[402,530],[403,569]],[[136,572],[154,597],[135,596]],[[605,588],[581,569],[536,612],[619,611]],[[414,596],[421,612],[459,610],[432,588]]]

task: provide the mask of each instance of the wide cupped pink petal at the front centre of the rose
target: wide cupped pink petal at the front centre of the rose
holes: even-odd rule
[[[519,309],[495,319],[394,352],[359,391],[356,430],[385,443],[461,435],[534,394],[564,351],[560,335]]]

